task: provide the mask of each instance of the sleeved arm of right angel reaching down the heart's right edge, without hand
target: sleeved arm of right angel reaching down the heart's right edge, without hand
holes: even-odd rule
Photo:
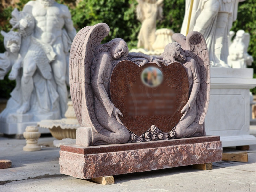
[[[196,67],[196,61],[194,59],[191,59],[191,72],[192,72],[192,76],[193,76],[193,84],[192,84],[192,89],[191,89],[191,93],[188,99],[188,105],[189,108],[191,109],[196,101],[196,97],[197,97],[197,93],[200,89],[200,76]]]

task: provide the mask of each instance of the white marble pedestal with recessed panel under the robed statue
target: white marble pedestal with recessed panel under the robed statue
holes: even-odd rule
[[[256,144],[250,135],[250,89],[253,69],[211,68],[210,104],[205,118],[207,135],[218,135],[223,147]]]

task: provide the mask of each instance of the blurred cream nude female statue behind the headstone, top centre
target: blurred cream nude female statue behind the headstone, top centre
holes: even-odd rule
[[[163,0],[137,0],[137,19],[142,22],[137,47],[153,50],[156,40],[156,20],[162,18]]]

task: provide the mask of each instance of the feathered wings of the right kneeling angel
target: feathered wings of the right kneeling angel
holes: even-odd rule
[[[191,31],[187,37],[180,33],[173,34],[172,38],[185,50],[192,53],[200,75],[200,90],[196,97],[197,115],[195,121],[204,123],[210,100],[210,60],[207,44],[203,35],[197,31]]]

